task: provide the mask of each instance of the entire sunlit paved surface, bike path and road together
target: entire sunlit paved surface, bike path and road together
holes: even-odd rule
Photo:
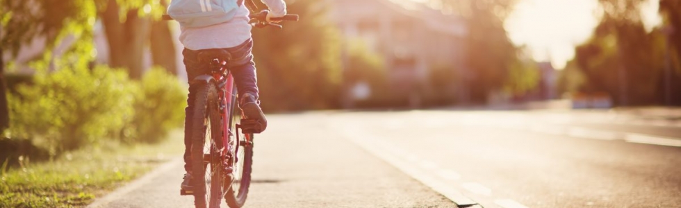
[[[608,112],[270,115],[245,207],[681,207],[681,127]],[[94,207],[192,207],[181,161]]]

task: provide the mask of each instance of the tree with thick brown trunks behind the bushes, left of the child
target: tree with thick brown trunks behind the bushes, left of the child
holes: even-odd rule
[[[143,58],[151,44],[154,64],[177,74],[175,48],[167,21],[160,21],[166,0],[100,0],[99,16],[109,46],[110,67],[128,69],[133,79],[142,78]]]

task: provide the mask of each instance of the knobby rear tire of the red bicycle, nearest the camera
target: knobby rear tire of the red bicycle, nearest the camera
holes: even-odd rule
[[[218,93],[214,83],[197,84],[195,89],[191,148],[194,204],[197,208],[218,208],[224,193]]]

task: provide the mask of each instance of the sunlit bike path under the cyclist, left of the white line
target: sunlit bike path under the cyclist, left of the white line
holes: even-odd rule
[[[254,181],[244,207],[456,207],[343,135],[329,133],[337,131],[318,116],[268,119],[268,130],[256,137]],[[179,196],[181,160],[151,174],[94,207],[193,206],[192,197]]]

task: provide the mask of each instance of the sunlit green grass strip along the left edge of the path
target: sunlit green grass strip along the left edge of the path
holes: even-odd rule
[[[182,132],[174,131],[161,144],[102,145],[35,164],[26,158],[0,173],[0,207],[85,207],[183,150]]]

